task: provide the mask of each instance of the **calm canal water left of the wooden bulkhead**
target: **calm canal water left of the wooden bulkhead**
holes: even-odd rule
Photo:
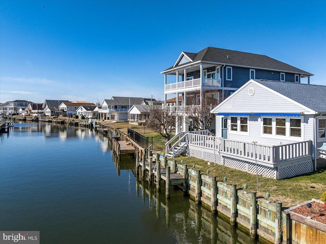
[[[259,243],[174,190],[166,200],[93,130],[15,123],[0,135],[0,230],[40,243]]]

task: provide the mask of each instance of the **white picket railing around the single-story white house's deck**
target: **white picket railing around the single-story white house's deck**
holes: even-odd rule
[[[198,131],[196,133],[188,132],[186,136],[186,140],[183,137],[183,141],[187,141],[188,145],[213,150],[215,153],[241,158],[243,160],[257,160],[257,162],[264,162],[265,164],[275,164],[277,162],[311,155],[311,141],[266,146],[216,138],[212,135],[200,134]]]

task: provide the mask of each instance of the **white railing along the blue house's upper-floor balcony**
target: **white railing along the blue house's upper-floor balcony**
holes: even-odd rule
[[[203,82],[201,82],[201,78],[198,79],[191,79],[185,80],[183,82],[176,82],[165,85],[165,90],[175,90],[175,89],[184,89],[184,88],[194,88],[194,87],[221,87],[221,79],[211,79],[211,78],[204,78]]]

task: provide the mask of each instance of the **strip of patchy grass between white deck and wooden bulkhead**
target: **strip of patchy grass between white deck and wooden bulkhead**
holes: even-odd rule
[[[216,176],[216,180],[223,181],[227,177],[228,184],[237,184],[237,188],[243,188],[244,184],[248,185],[248,192],[257,191],[257,176],[231,169],[221,165],[214,165],[210,162],[194,158],[180,156],[175,158],[177,163],[187,164],[188,168],[201,170],[202,174],[207,174],[209,170],[210,176]],[[299,203],[309,201],[311,199],[320,199],[321,194],[326,191],[326,168],[320,168],[309,174],[296,176],[290,179],[275,180],[262,176],[258,176],[259,191],[257,196],[265,197],[266,193],[270,193],[270,201],[282,201],[283,206],[293,206]]]

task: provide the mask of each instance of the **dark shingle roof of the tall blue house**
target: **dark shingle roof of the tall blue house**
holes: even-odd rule
[[[188,57],[192,57],[192,61],[187,63],[180,63],[182,55],[186,54]],[[205,49],[197,52],[181,52],[177,62],[174,66],[162,71],[161,73],[166,73],[171,69],[181,68],[183,66],[187,66],[193,63],[202,63],[202,62],[209,62],[213,64],[220,64],[220,65],[232,65],[232,66],[239,66],[239,67],[249,67],[249,68],[256,68],[256,69],[269,69],[269,70],[276,70],[282,72],[291,72],[297,74],[303,74],[307,76],[311,76],[313,74],[304,71],[302,69],[298,69],[293,67],[289,64],[283,63],[273,58],[269,58],[265,55],[258,55],[250,52],[242,52],[242,51],[234,51],[216,47],[206,47]]]

